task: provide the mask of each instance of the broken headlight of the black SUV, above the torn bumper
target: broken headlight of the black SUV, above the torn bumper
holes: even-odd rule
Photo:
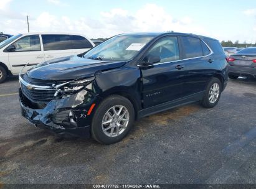
[[[95,79],[95,76],[85,79],[77,79],[68,81],[66,83],[62,83],[60,85],[55,86],[57,91],[54,96],[63,95],[63,94],[75,94],[81,91],[83,88],[92,89],[92,81]]]

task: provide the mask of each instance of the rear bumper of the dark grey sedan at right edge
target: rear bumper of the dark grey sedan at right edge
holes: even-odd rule
[[[254,76],[256,78],[256,68],[254,67],[228,67],[228,74],[235,76]]]

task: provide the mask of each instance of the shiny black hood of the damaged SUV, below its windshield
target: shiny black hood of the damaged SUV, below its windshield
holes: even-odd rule
[[[40,63],[27,71],[27,75],[40,80],[72,80],[93,76],[97,71],[118,68],[125,63],[92,60],[74,55]]]

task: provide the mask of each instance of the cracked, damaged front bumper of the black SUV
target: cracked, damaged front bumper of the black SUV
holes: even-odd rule
[[[43,108],[37,108],[22,90],[19,90],[21,114],[37,127],[56,134],[90,137],[92,114],[88,110],[97,103],[98,96],[87,90],[72,94],[67,98],[52,99]],[[94,105],[93,105],[94,107]]]

